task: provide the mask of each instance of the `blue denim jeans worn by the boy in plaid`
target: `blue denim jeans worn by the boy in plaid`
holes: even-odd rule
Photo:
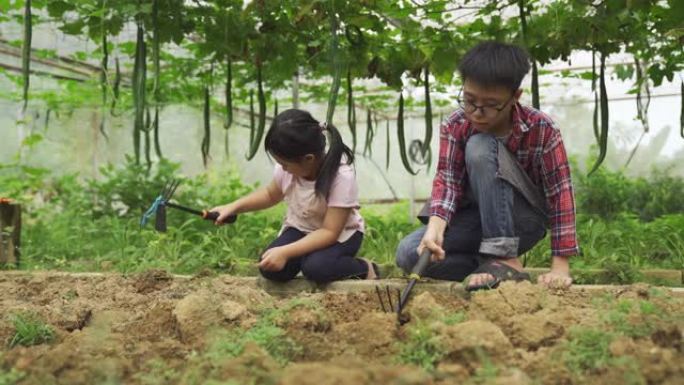
[[[530,250],[546,235],[543,197],[515,158],[495,137],[472,136],[466,144],[466,197],[444,232],[443,261],[424,275],[462,281],[483,260],[510,258]],[[397,248],[397,265],[410,272],[425,234],[423,226]]]

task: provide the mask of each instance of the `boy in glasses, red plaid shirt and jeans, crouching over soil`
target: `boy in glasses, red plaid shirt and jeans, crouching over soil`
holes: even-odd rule
[[[461,108],[441,126],[432,199],[419,214],[427,226],[397,249],[405,271],[428,248],[424,275],[460,281],[470,274],[469,291],[529,280],[518,256],[550,227],[551,271],[538,281],[571,285],[568,257],[579,248],[570,167],[551,119],[518,102],[529,69],[527,53],[509,44],[484,42],[463,57]]]

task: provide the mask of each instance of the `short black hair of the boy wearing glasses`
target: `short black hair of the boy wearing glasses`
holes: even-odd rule
[[[471,48],[458,65],[463,81],[485,87],[504,86],[515,92],[530,70],[530,56],[522,47],[486,41]]]

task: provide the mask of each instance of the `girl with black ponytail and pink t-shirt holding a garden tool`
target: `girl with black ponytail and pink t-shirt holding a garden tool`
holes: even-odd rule
[[[216,224],[230,215],[285,200],[283,228],[259,262],[264,277],[288,281],[301,271],[318,283],[378,278],[375,263],[354,257],[361,247],[364,222],[352,168],[354,154],[339,131],[306,111],[286,110],[273,120],[264,147],[277,162],[273,180],[266,188],[213,208],[220,214]]]

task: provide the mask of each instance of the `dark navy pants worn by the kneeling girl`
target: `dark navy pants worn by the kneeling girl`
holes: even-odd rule
[[[267,248],[288,245],[306,236],[305,233],[288,228]],[[361,248],[363,233],[357,231],[345,242],[337,242],[322,250],[316,250],[308,255],[291,258],[280,271],[266,271],[259,269],[261,275],[274,281],[289,281],[301,271],[304,277],[317,282],[326,283],[349,278],[366,278],[368,264],[359,258],[354,258]]]

